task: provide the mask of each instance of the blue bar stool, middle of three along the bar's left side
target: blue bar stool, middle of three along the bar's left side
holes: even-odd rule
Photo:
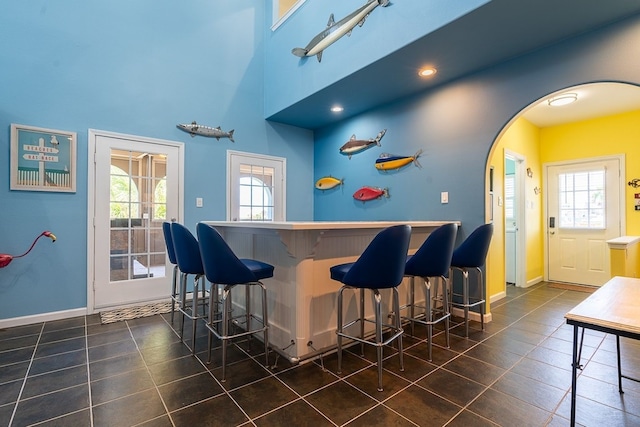
[[[206,316],[206,290],[204,288],[204,268],[200,257],[198,241],[191,232],[182,224],[171,223],[171,237],[173,249],[176,254],[178,269],[180,270],[180,290],[178,309],[182,313],[182,324],[180,325],[180,340],[184,336],[184,318],[188,317],[192,323],[192,346],[191,354],[195,354],[196,349],[196,327],[198,319]],[[187,302],[187,276],[194,275],[193,294],[191,304]],[[200,294],[202,290],[202,294]],[[198,314],[198,309],[202,308],[202,313]]]

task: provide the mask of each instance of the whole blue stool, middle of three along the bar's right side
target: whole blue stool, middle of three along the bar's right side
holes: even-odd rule
[[[427,347],[429,349],[429,361],[431,361],[431,338],[433,337],[433,325],[444,321],[447,348],[449,348],[449,302],[448,281],[451,257],[456,243],[457,224],[445,224],[435,229],[424,241],[414,255],[407,257],[404,275],[411,277],[409,288],[409,304],[403,308],[409,308],[408,319],[411,322],[411,335],[414,335],[415,323],[427,326]],[[425,305],[418,306],[415,303],[415,279],[420,277],[424,283]],[[433,307],[431,296],[430,278],[439,278],[442,283],[442,305]],[[437,295],[437,289],[436,289]],[[435,299],[435,298],[434,298]],[[437,301],[436,301],[437,304]],[[416,315],[415,309],[423,309],[424,313]],[[435,314],[435,317],[434,317]]]

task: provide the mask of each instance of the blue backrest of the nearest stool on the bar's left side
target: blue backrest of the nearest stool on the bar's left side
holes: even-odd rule
[[[204,224],[196,225],[204,274],[211,283],[236,285],[255,282],[255,275],[233,253],[218,230]]]

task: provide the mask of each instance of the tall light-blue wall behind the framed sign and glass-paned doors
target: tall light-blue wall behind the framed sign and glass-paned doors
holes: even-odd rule
[[[0,6],[0,319],[86,306],[89,128],[185,143],[185,217],[225,219],[226,150],[287,158],[287,219],[313,215],[313,134],[264,121],[265,2],[5,0]],[[235,128],[191,138],[177,123]],[[11,123],[78,134],[75,194],[9,191]],[[195,207],[195,198],[204,207]]]

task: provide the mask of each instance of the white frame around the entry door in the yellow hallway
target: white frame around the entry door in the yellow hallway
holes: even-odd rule
[[[543,168],[543,183],[542,183],[542,188],[549,188],[549,184],[548,184],[548,172],[549,172],[549,167],[552,166],[570,166],[570,165],[578,165],[580,163],[591,163],[591,162],[603,162],[603,161],[607,161],[607,160],[618,160],[619,165],[620,165],[620,175],[618,176],[618,186],[619,186],[619,200],[618,200],[618,216],[620,219],[620,235],[621,236],[625,236],[627,234],[627,213],[626,213],[626,208],[625,208],[625,196],[626,196],[626,189],[625,189],[625,180],[624,177],[626,176],[625,173],[625,155],[624,154],[614,154],[614,155],[610,155],[610,156],[600,156],[600,157],[589,157],[589,158],[583,158],[583,159],[573,159],[573,160],[566,160],[566,161],[559,161],[559,162],[549,162],[549,163],[544,163],[542,165]],[[543,247],[544,247],[544,280],[545,281],[549,281],[549,207],[547,206],[547,201],[546,198],[543,198],[544,200],[544,210],[543,210],[543,215],[544,215],[544,227],[543,227],[543,234],[544,234],[544,240],[542,242]]]

